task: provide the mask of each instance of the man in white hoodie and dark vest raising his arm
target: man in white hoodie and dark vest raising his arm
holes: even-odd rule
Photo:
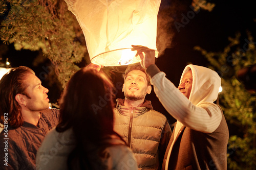
[[[214,104],[221,85],[217,72],[187,65],[177,89],[155,65],[154,50],[133,47],[159,101],[177,119],[162,169],[227,169],[228,127],[220,106]]]

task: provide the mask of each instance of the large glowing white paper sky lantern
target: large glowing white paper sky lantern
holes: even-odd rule
[[[161,0],[65,0],[86,37],[91,62],[119,66],[140,62],[131,45],[156,48]]]

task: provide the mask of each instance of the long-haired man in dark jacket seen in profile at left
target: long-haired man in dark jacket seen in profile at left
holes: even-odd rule
[[[48,89],[32,69],[12,68],[0,80],[1,169],[35,169],[35,156],[59,112],[49,108]]]

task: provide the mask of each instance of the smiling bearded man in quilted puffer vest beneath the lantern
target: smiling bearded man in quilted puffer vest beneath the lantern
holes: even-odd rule
[[[125,99],[116,100],[114,130],[134,152],[139,169],[161,169],[172,132],[166,117],[145,100],[150,78],[140,64],[128,66],[123,78]]]

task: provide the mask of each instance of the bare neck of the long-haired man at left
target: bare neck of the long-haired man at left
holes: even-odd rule
[[[37,126],[41,115],[39,111],[30,111],[22,109],[22,117],[25,122]]]

